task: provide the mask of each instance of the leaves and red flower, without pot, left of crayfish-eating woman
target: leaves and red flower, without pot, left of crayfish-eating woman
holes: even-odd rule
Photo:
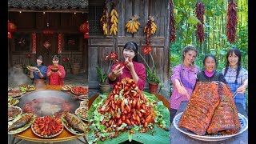
[[[117,62],[118,60],[118,54],[115,52],[111,52],[109,55],[104,56],[105,61],[110,61],[109,66],[104,71],[103,66],[96,66],[97,76],[98,76],[98,82],[100,84],[108,84],[108,78],[107,75],[110,73],[111,66],[114,64],[114,62]]]

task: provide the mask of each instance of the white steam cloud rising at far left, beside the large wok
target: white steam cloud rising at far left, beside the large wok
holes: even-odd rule
[[[30,76],[24,74],[22,67],[11,67],[8,70],[8,89],[17,88],[21,84],[31,84]]]

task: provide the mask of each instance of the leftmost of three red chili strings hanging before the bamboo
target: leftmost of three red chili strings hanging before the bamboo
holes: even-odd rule
[[[170,0],[170,42],[175,42],[175,38],[174,3]]]

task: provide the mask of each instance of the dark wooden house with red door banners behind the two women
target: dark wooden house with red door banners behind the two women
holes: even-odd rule
[[[60,64],[70,58],[88,71],[88,40],[79,30],[88,20],[88,0],[9,0],[8,19],[17,27],[9,38],[9,67],[36,64],[38,54],[48,66],[59,54]]]

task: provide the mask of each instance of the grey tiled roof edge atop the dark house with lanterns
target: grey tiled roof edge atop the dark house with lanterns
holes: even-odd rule
[[[88,9],[88,0],[8,0],[8,8],[9,10],[82,10]]]

